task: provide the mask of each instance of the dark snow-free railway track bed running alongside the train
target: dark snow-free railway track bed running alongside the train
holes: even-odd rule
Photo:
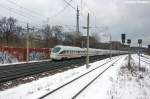
[[[90,57],[90,62],[101,60],[107,57],[109,57],[109,55]],[[80,58],[55,62],[44,61],[0,66],[0,83],[46,71],[54,71],[58,69],[63,70],[64,68],[72,68],[73,66],[81,66],[84,64],[85,58]]]

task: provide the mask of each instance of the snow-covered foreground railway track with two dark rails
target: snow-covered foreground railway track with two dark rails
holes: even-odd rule
[[[113,60],[109,60],[108,62],[74,78],[73,80],[59,86],[58,88],[51,90],[50,92],[46,93],[45,95],[39,97],[38,99],[66,99],[66,97],[63,97],[65,95],[67,96],[67,99],[75,99],[77,96],[79,96],[88,86],[90,86],[97,78],[99,78],[105,71],[107,71],[113,64],[115,64],[117,61],[119,61],[119,58],[115,58]],[[95,76],[95,72],[97,75]],[[85,79],[84,77],[88,77],[88,79]],[[83,83],[81,83],[83,81]],[[78,86],[75,86],[78,85]],[[82,86],[81,86],[82,85]],[[65,93],[66,89],[76,89],[75,91],[72,91],[70,93]],[[67,91],[68,92],[68,91]],[[62,94],[63,96],[59,96]]]

